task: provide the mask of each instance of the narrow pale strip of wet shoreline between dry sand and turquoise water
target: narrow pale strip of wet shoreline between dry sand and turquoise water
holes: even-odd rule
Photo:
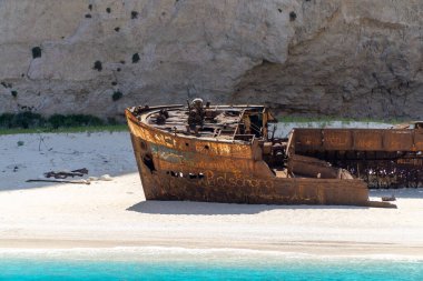
[[[52,245],[51,242],[55,244]],[[190,257],[190,255],[275,255],[285,258],[327,258],[338,259],[370,259],[370,260],[417,260],[423,261],[423,245],[404,244],[368,244],[356,242],[286,242],[278,244],[253,244],[253,243],[230,243],[230,244],[206,244],[205,242],[190,242],[189,244],[175,245],[178,241],[8,241],[0,242],[0,258],[16,255],[38,255],[48,257],[92,257],[112,258],[125,257],[128,260],[136,260],[144,255],[166,255]],[[340,250],[341,249],[341,250]],[[161,257],[166,259],[166,257]]]

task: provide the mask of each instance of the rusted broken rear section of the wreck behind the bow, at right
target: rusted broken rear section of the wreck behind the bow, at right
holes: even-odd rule
[[[331,162],[370,188],[423,187],[423,130],[295,129],[291,151]]]

